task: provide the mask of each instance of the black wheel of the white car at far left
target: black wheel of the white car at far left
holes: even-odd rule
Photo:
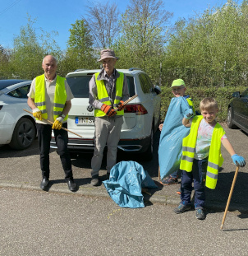
[[[34,123],[30,119],[22,118],[16,123],[9,146],[16,150],[22,150],[30,147],[34,138]]]

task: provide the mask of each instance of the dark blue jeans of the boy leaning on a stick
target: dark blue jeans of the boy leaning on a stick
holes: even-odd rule
[[[208,166],[208,158],[203,160],[194,159],[191,172],[182,170],[181,173],[181,203],[184,205],[191,204],[191,192],[193,190],[192,182],[195,189],[195,209],[204,208],[205,189],[204,181]]]

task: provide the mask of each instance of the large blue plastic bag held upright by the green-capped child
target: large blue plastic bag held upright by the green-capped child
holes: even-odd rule
[[[190,128],[182,124],[187,109],[190,109],[190,106],[185,97],[172,98],[163,122],[158,147],[160,179],[179,169],[182,139],[190,133]]]

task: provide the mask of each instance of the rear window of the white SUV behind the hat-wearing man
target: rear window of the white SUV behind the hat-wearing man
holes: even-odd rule
[[[67,83],[75,98],[89,98],[90,76],[67,77]],[[134,78],[126,76],[130,96],[135,95]]]

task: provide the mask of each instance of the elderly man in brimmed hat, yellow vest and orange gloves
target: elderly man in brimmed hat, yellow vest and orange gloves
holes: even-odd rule
[[[95,132],[94,156],[91,160],[91,185],[98,186],[99,170],[103,160],[103,149],[107,144],[107,178],[117,161],[117,145],[120,140],[124,105],[129,99],[126,76],[117,72],[117,57],[112,49],[103,49],[99,62],[103,69],[90,80],[90,105],[94,107]],[[118,108],[117,111],[114,108]]]

